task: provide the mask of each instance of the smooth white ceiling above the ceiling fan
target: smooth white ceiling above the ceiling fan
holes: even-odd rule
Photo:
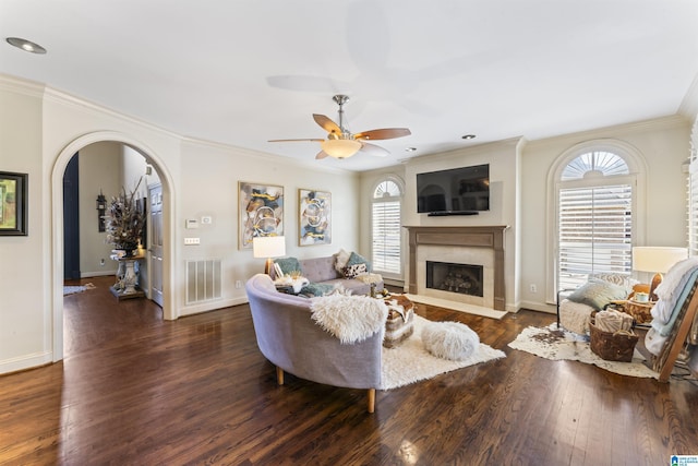
[[[412,131],[317,162],[349,170],[675,115],[698,75],[695,0],[2,0],[0,31],[48,49],[0,73],[185,136],[313,159],[267,140],[324,138],[338,93],[352,132]]]

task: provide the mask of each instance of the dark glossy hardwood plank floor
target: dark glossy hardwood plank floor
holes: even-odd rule
[[[507,347],[550,314],[468,324],[507,357],[388,392],[315,384],[260,354],[248,306],[163,321],[112,278],[67,296],[65,359],[0,377],[0,464],[662,465],[698,454],[698,386]]]

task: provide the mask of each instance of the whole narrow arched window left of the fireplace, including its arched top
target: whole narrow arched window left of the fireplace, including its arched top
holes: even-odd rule
[[[402,189],[399,181],[387,178],[373,190],[371,215],[371,243],[373,270],[398,277],[401,266],[401,205]]]

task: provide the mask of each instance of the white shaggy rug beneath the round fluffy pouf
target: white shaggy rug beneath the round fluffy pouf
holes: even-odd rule
[[[414,333],[395,348],[383,348],[382,386],[381,390],[397,389],[432,379],[438,374],[456,369],[467,368],[493,359],[504,358],[506,355],[500,349],[480,344],[478,351],[462,361],[449,361],[432,356],[422,344],[422,328],[429,321],[414,315]]]

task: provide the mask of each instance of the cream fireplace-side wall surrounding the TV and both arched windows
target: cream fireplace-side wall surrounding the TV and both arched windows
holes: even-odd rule
[[[421,226],[509,225],[506,244],[507,310],[527,308],[555,312],[550,300],[553,283],[547,278],[547,244],[552,206],[547,182],[558,158],[576,145],[613,140],[640,154],[647,167],[646,193],[638,215],[646,217],[637,244],[686,246],[686,179],[682,164],[689,153],[690,122],[683,117],[602,128],[540,141],[508,140],[452,153],[429,155],[405,165],[363,172],[362,248],[370,251],[370,191],[386,174],[401,177],[407,186],[402,224]],[[458,166],[491,164],[491,212],[474,217],[428,217],[417,214],[416,175]],[[407,259],[407,244],[405,255]],[[405,264],[407,266],[407,264]],[[406,275],[407,277],[407,275]],[[640,278],[640,277],[638,277]],[[531,292],[535,285],[537,292]]]

